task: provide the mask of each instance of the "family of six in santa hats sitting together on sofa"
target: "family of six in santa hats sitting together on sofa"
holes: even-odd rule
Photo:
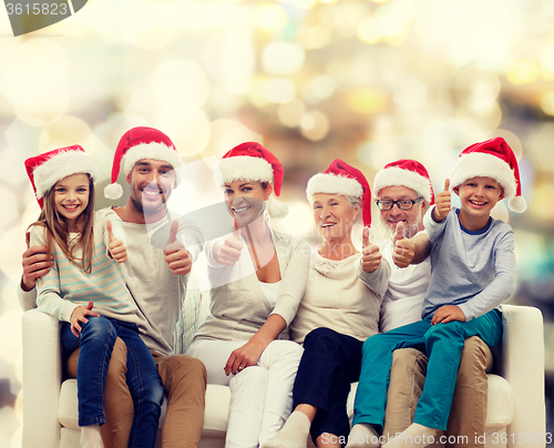
[[[153,447],[157,427],[148,421],[160,416],[163,394],[144,390],[150,384],[156,390],[156,381],[167,398],[163,447],[198,447],[206,384],[230,388],[228,448],[304,448],[309,435],[319,448],[398,446],[410,439],[392,438],[402,431],[413,439],[438,430],[483,445],[474,435],[484,432],[485,368],[502,332],[499,305],[513,293],[515,278],[513,232],[490,211],[504,197],[512,210],[525,208],[517,163],[503,139],[464,150],[437,204],[429,174],[417,161],[386,165],[371,192],[359,170],[335,160],[307,185],[321,236],[312,254],[306,241],[270,227],[269,217],[286,214],[276,198],[284,169],[259,143],[243,143],[218,162],[216,177],[234,227],[209,241],[202,226],[166,207],[183,162],[162,132],[134,128],[122,136],[105,194],[121,197],[122,165],[130,195],[98,225],[86,226],[84,213],[94,206],[95,166],[65,160],[73,153],[83,160],[82,149],[70,146],[27,163],[41,217],[50,213],[53,220],[39,218],[31,227],[40,226],[45,236],[31,238],[23,254],[20,302],[24,309],[54,314],[74,335],[68,334],[72,345],[62,339],[62,346],[66,374],[78,378],[80,426],[86,428],[81,447]],[[72,185],[68,180],[76,174],[86,179]],[[460,196],[460,210],[451,207],[450,191]],[[390,233],[378,244],[369,241],[372,194]],[[51,205],[43,207],[43,198]],[[361,252],[351,236],[359,215]],[[50,222],[61,222],[63,232]],[[86,232],[94,242],[89,248],[81,247]],[[448,248],[441,255],[442,246]],[[186,355],[174,354],[173,329],[201,251],[208,261],[211,313]],[[458,253],[466,258],[449,258]],[[445,259],[452,272],[458,263],[459,277],[444,277]],[[464,265],[469,262],[475,263]],[[113,292],[103,273],[107,266],[114,282],[126,284],[129,304]],[[72,287],[68,269],[96,287],[100,282],[101,291],[91,295],[86,287]],[[57,301],[54,310],[49,301]],[[111,355],[102,354],[105,363],[92,387],[85,359],[98,332],[88,328],[106,315],[113,334],[101,347]],[[120,320],[140,336],[151,359],[122,342]],[[404,326],[414,325],[418,335],[407,336]],[[451,333],[437,336],[442,328],[455,328],[455,348]],[[377,366],[373,347],[392,339],[388,367]],[[423,389],[431,353],[432,380]],[[150,365],[157,367],[154,377],[142,373],[151,371]],[[357,381],[350,428],[346,404]],[[440,398],[433,389],[441,389]],[[92,411],[90,396],[96,403]]]

